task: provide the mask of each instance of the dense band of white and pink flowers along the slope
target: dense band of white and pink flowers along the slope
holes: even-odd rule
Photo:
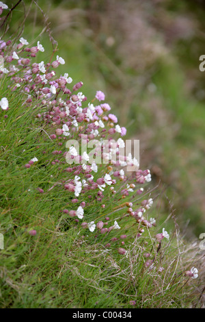
[[[3,8],[1,3],[0,7]],[[66,71],[57,77],[55,69],[59,64],[65,64],[64,58],[57,55],[48,63],[32,62],[39,51],[44,52],[39,41],[36,46],[29,47],[23,37],[18,45],[12,44],[11,40],[0,40],[0,55],[4,60],[0,79],[7,77],[10,92],[25,97],[25,108],[35,106],[35,122],[44,125],[46,140],[52,141],[53,151],[48,151],[47,166],[50,169],[56,166],[56,173],[63,173],[64,178],[57,179],[47,191],[63,189],[66,193],[61,206],[64,216],[81,232],[87,230],[96,236],[106,236],[105,247],[114,245],[120,255],[126,256],[127,234],[122,232],[128,231],[127,228],[125,231],[127,222],[131,223],[130,227],[135,227],[137,238],[156,226],[156,219],[149,219],[147,214],[153,199],[143,186],[151,181],[150,171],[139,169],[139,162],[131,153],[122,155],[121,149],[125,147],[122,137],[126,135],[126,128],[120,127],[118,117],[110,113],[105,94],[97,90],[94,99],[87,103],[87,97],[81,92],[83,82],[71,87],[72,78]],[[0,106],[2,113],[6,110],[9,114],[12,109],[9,95],[1,98]],[[92,150],[91,141],[96,143],[92,155],[83,151],[85,145]],[[70,142],[72,144],[67,145]],[[23,164],[25,171],[32,171],[32,165],[40,162],[40,150],[35,153],[38,158]],[[133,166],[132,173],[127,173],[126,166]],[[38,193],[44,194],[43,186],[38,187]],[[149,196],[147,199],[146,195]],[[120,236],[113,234],[119,231]],[[29,234],[34,236],[36,233]],[[156,242],[163,238],[169,239],[164,228],[161,234],[156,234]]]

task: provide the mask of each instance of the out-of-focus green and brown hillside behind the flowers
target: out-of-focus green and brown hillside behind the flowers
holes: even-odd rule
[[[4,1],[9,8],[16,1]],[[189,234],[205,232],[205,1],[39,0],[49,18],[60,73],[82,81],[89,101],[96,90],[127,127],[127,138],[140,140],[142,169],[159,184],[159,211],[175,214]],[[32,1],[13,11],[8,35],[22,26],[36,45],[38,35],[51,57],[45,17]],[[20,31],[20,29],[19,29]],[[8,37],[8,36],[7,36]],[[38,55],[38,61],[39,61]]]

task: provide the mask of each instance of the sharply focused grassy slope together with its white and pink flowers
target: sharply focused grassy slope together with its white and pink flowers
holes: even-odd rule
[[[44,51],[0,40],[1,306],[186,306],[198,271],[158,223],[150,171],[124,153],[105,94],[87,98]]]

